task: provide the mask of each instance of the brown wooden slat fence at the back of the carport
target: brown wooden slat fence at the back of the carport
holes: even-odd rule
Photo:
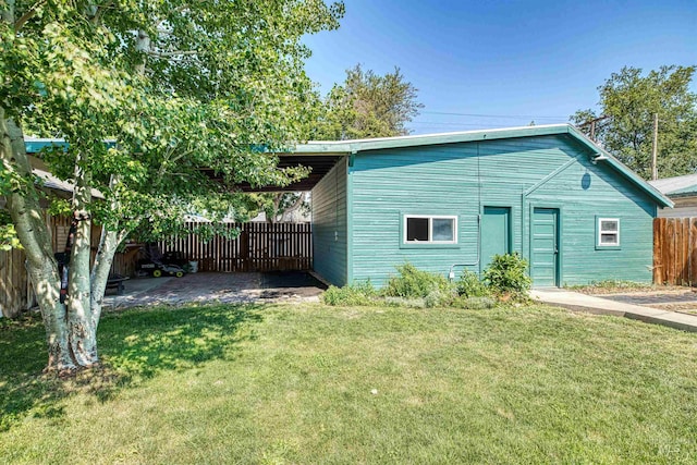
[[[196,223],[186,227],[193,231]],[[225,228],[227,234],[210,241],[192,233],[162,241],[160,247],[163,254],[179,253],[198,261],[199,271],[284,271],[313,267],[309,223],[229,223]]]

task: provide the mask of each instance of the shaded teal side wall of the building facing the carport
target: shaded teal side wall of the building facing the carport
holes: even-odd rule
[[[335,285],[347,282],[346,158],[313,189],[313,267]]]

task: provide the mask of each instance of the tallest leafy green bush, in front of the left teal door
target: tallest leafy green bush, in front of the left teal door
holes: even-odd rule
[[[526,298],[533,283],[525,272],[527,266],[527,260],[517,252],[494,255],[491,265],[484,271],[484,278],[494,294]]]

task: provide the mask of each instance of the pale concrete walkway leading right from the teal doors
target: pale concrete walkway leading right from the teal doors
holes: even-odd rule
[[[643,307],[561,289],[536,289],[533,290],[530,296],[533,299],[543,304],[568,308],[571,310],[582,310],[598,315],[614,315],[647,323],[663,325],[683,331],[697,332],[697,315]]]

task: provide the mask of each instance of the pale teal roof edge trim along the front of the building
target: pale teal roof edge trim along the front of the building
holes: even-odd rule
[[[308,142],[295,147],[292,155],[310,157],[310,156],[340,156],[340,155],[353,155],[357,152],[418,147],[429,145],[443,145],[443,144],[456,144],[464,142],[481,142],[503,138],[518,138],[518,137],[533,137],[545,135],[568,135],[575,140],[584,145],[594,158],[598,161],[608,163],[611,168],[617,171],[632,184],[636,185],[639,189],[645,192],[651,197],[658,205],[662,207],[673,207],[673,203],[665,197],[659,189],[655,188],[646,181],[644,181],[638,174],[623,164],[620,160],[614,158],[602,147],[596,145],[592,140],[586,137],[580,131],[571,124],[548,124],[540,126],[523,126],[523,127],[505,127],[499,130],[478,130],[478,131],[464,131],[456,133],[443,133],[443,134],[425,134],[413,136],[400,136],[400,137],[381,137],[369,139],[356,139],[356,140],[330,140],[330,142]]]

